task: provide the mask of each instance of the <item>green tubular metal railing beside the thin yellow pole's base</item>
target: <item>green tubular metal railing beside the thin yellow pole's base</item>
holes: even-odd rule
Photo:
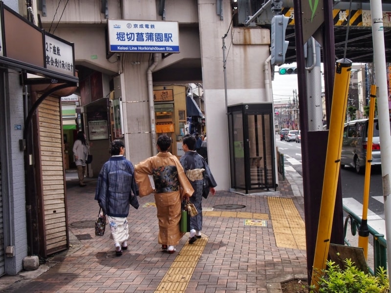
[[[350,209],[343,205],[344,211],[348,214],[344,223],[344,238],[345,243],[351,246],[346,238],[348,222],[350,220],[350,231],[353,236],[356,235],[361,225],[361,218],[354,214]],[[369,233],[373,236],[373,269],[369,267],[369,272],[374,275],[377,268],[383,267],[387,269],[387,242],[383,234],[379,234],[376,230],[368,225]]]

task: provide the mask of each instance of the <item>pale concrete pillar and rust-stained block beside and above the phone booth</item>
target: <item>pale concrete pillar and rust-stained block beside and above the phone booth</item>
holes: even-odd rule
[[[225,109],[222,37],[229,29],[231,7],[223,1],[224,20],[216,13],[214,0],[198,0],[202,79],[207,117],[208,162],[217,190],[230,188],[228,127]],[[225,38],[227,103],[272,102],[266,97],[263,63],[269,53],[269,31],[230,28]],[[238,34],[238,37],[236,37]],[[233,37],[234,36],[234,37]],[[246,36],[246,37],[243,37]],[[235,44],[231,43],[235,40]],[[270,72],[270,70],[269,70]],[[268,77],[271,80],[269,74]]]

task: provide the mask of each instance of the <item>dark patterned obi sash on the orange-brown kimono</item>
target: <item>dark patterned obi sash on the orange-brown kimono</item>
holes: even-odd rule
[[[176,166],[161,166],[152,171],[156,193],[179,190],[178,171]]]

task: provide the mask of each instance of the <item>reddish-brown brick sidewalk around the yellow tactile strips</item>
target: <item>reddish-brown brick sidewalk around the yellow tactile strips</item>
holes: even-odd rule
[[[187,243],[185,235],[176,247],[176,253],[160,250],[157,243],[156,209],[143,207],[153,203],[153,195],[139,199],[140,208],[130,209],[130,239],[128,250],[115,256],[107,232],[94,235],[93,223],[99,207],[93,200],[95,180],[87,188],[79,188],[76,180],[67,182],[68,226],[72,247],[52,256],[41,275],[5,276],[0,278],[0,292],[39,293],[153,293],[179,251]],[[270,215],[268,196],[293,199],[303,216],[300,198],[293,196],[287,180],[280,178],[278,192],[262,195],[241,195],[218,191],[204,200],[204,209],[216,205],[244,205],[240,211]],[[148,206],[148,205],[147,205]],[[214,209],[216,210],[216,209]],[[87,228],[75,228],[83,221]],[[304,250],[277,247],[270,216],[267,226],[245,226],[240,217],[204,216],[202,232],[209,237],[195,270],[187,284],[186,293],[279,292],[279,282],[289,276],[306,274]],[[80,240],[79,240],[80,239]],[[42,267],[42,266],[41,266]],[[7,278],[11,282],[7,287]],[[12,282],[12,278],[15,278]],[[15,280],[17,282],[15,283]],[[275,291],[277,290],[277,291]],[[160,291],[162,292],[162,291]],[[172,292],[172,291],[170,291]]]

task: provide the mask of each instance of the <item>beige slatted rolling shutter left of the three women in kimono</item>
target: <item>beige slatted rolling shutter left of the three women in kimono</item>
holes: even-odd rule
[[[68,248],[63,133],[60,99],[48,97],[38,108],[39,161],[42,195],[40,212],[40,246],[46,256]]]

